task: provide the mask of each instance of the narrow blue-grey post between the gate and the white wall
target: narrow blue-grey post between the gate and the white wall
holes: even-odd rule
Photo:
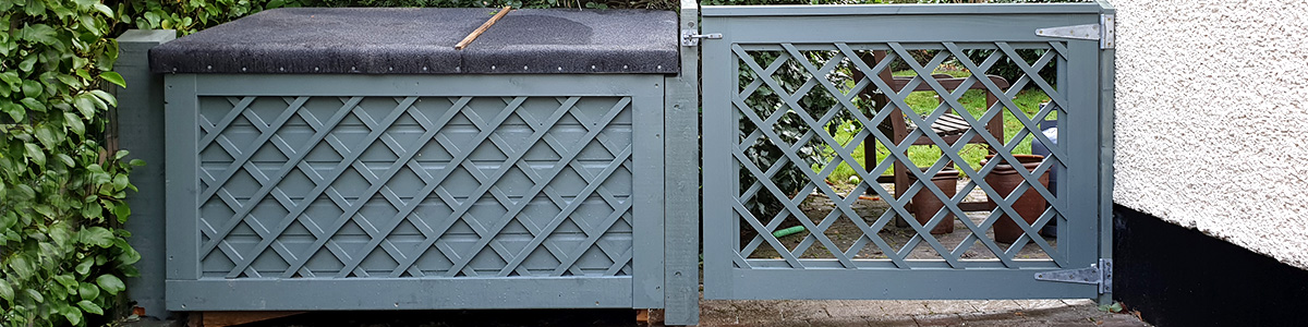
[[[1117,12],[1108,0],[1099,0],[1100,16],[1114,17]],[[1104,22],[1110,24],[1110,22]],[[1108,27],[1108,26],[1103,26]],[[1116,50],[1107,46],[1099,50],[1099,258],[1113,258],[1113,126],[1116,99]],[[1113,293],[1099,294],[1100,305],[1113,302]]]

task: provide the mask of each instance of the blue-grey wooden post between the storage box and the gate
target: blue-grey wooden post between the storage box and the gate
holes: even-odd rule
[[[680,30],[700,30],[700,5],[681,0]],[[666,78],[664,323],[700,322],[700,51],[681,47],[681,72]]]

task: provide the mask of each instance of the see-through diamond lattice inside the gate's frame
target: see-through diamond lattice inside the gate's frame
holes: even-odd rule
[[[893,268],[1066,264],[1066,249],[1037,233],[1066,220],[1061,213],[1066,199],[1042,178],[1066,169],[1066,146],[1039,127],[1074,115],[1062,110],[1070,106],[1054,86],[1056,67],[1066,61],[1063,43],[735,44],[732,54],[740,71],[732,94],[740,126],[732,153],[740,174],[732,203],[740,228],[735,267],[866,268],[878,260]],[[1001,63],[1011,63],[1006,69],[1020,77],[978,78],[1001,75]],[[980,95],[985,93],[993,97]],[[1018,103],[1029,98],[1048,103]],[[903,114],[892,116],[895,109]],[[942,127],[947,118],[964,127],[952,128],[961,133],[947,133],[951,128]],[[892,119],[908,126],[906,137],[895,137]],[[1003,137],[991,133],[998,129],[988,126],[994,119],[1005,123],[997,132]],[[866,166],[859,162],[872,149],[859,148],[865,140],[882,144],[879,160]],[[921,145],[921,140],[929,141]],[[1032,144],[1045,145],[1050,154],[1039,165],[1008,164],[1019,162],[1014,153],[1029,153]],[[920,152],[910,146],[934,146],[938,154],[913,158],[909,153]],[[984,154],[993,157],[977,162]],[[906,169],[914,181],[906,190],[876,182],[895,164],[920,167]],[[853,178],[831,181],[841,166],[853,170]],[[1001,173],[1012,166],[1018,169]],[[955,167],[961,178],[954,173],[947,179],[956,187],[917,182]],[[1003,174],[1015,179],[994,182]],[[910,205],[916,195],[942,201],[943,209],[927,212],[929,220],[920,224],[913,212],[920,209]],[[977,199],[981,204],[989,199],[990,208],[964,212],[964,203]],[[1033,212],[1019,209],[1031,200],[1045,204]],[[908,226],[895,228],[896,217]],[[940,224],[959,228],[931,234]],[[1016,225],[1020,235],[997,237],[1005,224]],[[804,232],[773,235],[791,226]]]

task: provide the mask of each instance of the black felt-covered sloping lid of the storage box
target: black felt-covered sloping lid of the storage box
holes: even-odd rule
[[[157,73],[676,73],[676,14],[489,8],[284,8],[150,50]]]

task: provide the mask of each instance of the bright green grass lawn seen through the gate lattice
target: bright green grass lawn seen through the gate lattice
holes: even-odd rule
[[[967,76],[971,75],[967,71],[961,71],[961,72],[960,71],[946,71],[946,72],[938,72],[938,73],[948,73],[948,75],[952,75],[955,77],[967,77]],[[910,72],[910,71],[905,71],[905,72],[896,72],[895,75],[896,76],[913,76],[914,73]],[[1032,115],[1035,115],[1036,111],[1040,110],[1040,103],[1048,102],[1048,101],[1049,101],[1049,97],[1045,95],[1045,93],[1041,92],[1041,90],[1039,90],[1039,89],[1025,89],[1025,90],[1022,90],[1014,98],[1014,103],[1016,103],[1018,107],[1020,107],[1022,111],[1025,112],[1027,119],[1032,119]],[[916,92],[913,94],[909,94],[909,97],[906,98],[906,102],[908,102],[909,106],[913,107],[913,111],[917,111],[920,115],[926,115],[931,110],[935,110],[937,106],[939,106],[939,101],[937,101],[934,92]],[[963,94],[963,98],[960,99],[960,102],[963,103],[964,107],[968,109],[968,111],[972,114],[973,118],[980,116],[982,114],[982,110],[985,110],[984,109],[985,107],[985,93],[982,93],[982,90],[968,90],[967,93]],[[952,111],[950,111],[950,112],[952,112]],[[1016,118],[1012,116],[1012,112],[1008,111],[1008,110],[1003,111],[1003,116],[1005,116],[1005,119],[1003,119],[1003,135],[1005,135],[1003,141],[1007,143],[1007,140],[1011,140],[1018,133],[1018,131],[1020,131],[1023,128],[1023,126],[1022,126],[1020,122],[1018,122]],[[1056,118],[1056,112],[1050,114],[1049,116],[1045,116],[1044,119],[1054,119],[1054,118]],[[853,139],[854,133],[857,133],[857,132],[858,132],[858,128],[857,128],[857,124],[854,124],[854,122],[844,122],[844,123],[841,123],[840,128],[836,128],[836,135],[832,135],[832,137],[844,144],[844,143],[850,141],[850,139]],[[1025,140],[1023,140],[1018,145],[1018,148],[1014,149],[1012,153],[1015,153],[1015,154],[1019,154],[1019,153],[1020,154],[1029,154],[1031,153],[1031,139],[1032,137],[1028,133],[1028,136],[1025,137]],[[853,154],[854,154],[854,158],[858,160],[858,164],[862,165],[866,169],[869,166],[866,165],[866,162],[863,162],[863,152],[865,152],[863,148],[865,148],[865,145],[866,144],[859,144],[858,148],[854,149]],[[980,145],[980,144],[968,144],[960,152],[961,157],[964,160],[967,160],[967,162],[972,166],[972,169],[980,169],[981,167],[981,165],[978,162],[982,158],[985,158],[986,153],[988,153],[986,146]],[[821,154],[823,154],[824,158],[828,160],[828,162],[829,162],[829,160],[832,157],[835,157],[835,152],[831,148],[823,149]],[[886,160],[886,157],[888,154],[889,154],[889,152],[886,149],[886,146],[882,145],[880,143],[876,143],[876,160],[878,160],[878,162],[880,162],[882,160]],[[930,166],[930,165],[935,164],[937,160],[940,158],[940,149],[937,148],[937,146],[933,146],[933,145],[913,145],[913,146],[909,146],[908,156],[909,156],[910,160],[913,160],[913,164],[916,164],[918,166]],[[876,166],[876,162],[874,162],[872,166]],[[812,169],[814,169],[814,171],[820,171],[821,170],[821,167],[818,166],[818,165],[814,165]],[[889,169],[889,170],[887,170],[886,174],[893,174],[893,167]],[[832,182],[832,183],[845,184],[845,183],[850,183],[850,177],[853,177],[853,175],[855,175],[854,174],[854,169],[852,166],[849,166],[849,164],[841,162],[840,166],[837,166],[836,170],[827,178],[827,181]]]

